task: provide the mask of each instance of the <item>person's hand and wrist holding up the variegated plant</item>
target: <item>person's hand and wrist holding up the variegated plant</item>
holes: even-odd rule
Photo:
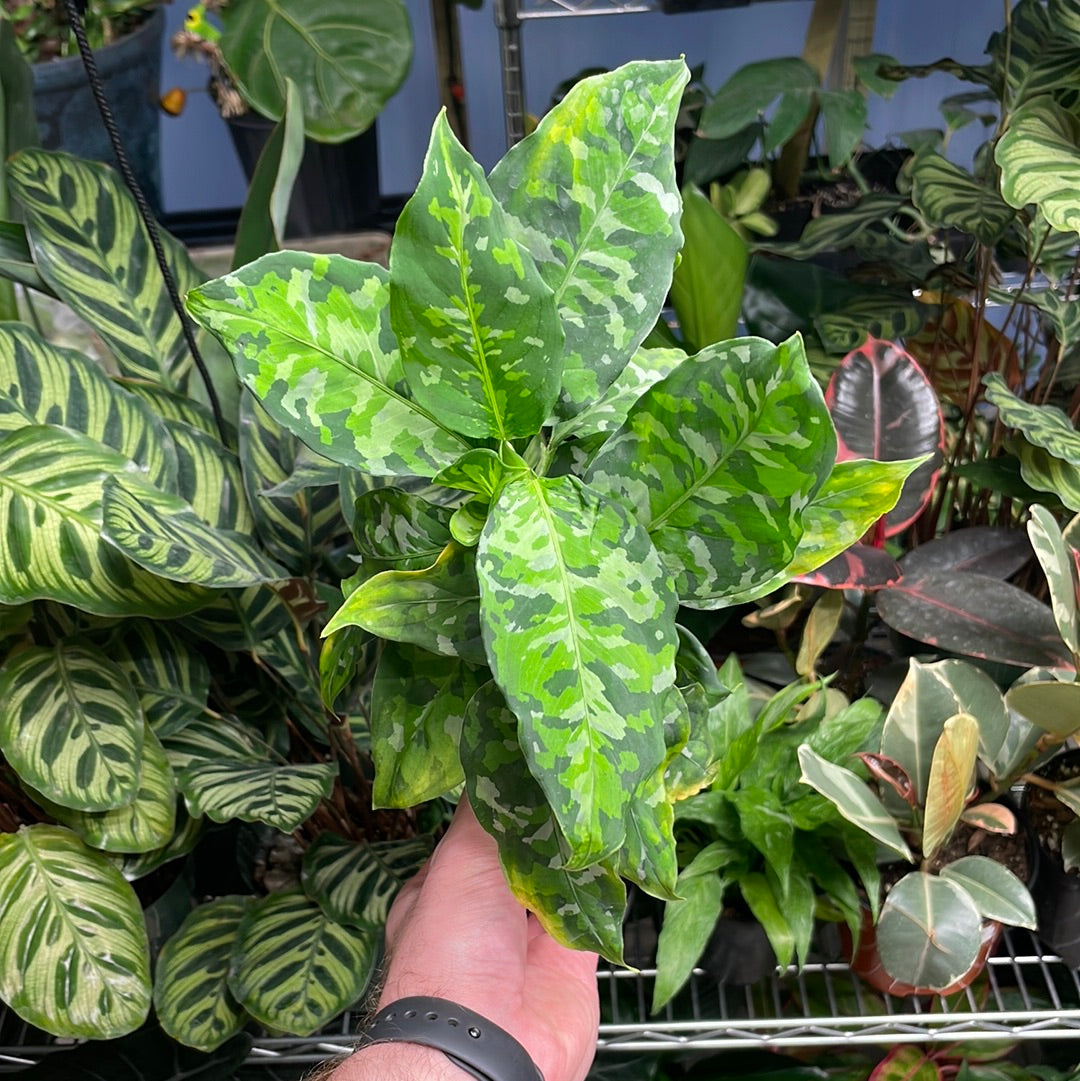
[[[560,946],[521,907],[503,877],[495,841],[465,797],[431,858],[395,900],[386,940],[381,1006],[413,995],[449,999],[515,1037],[545,1081],[583,1081],[600,1022],[596,955]],[[439,1052],[382,1044],[355,1055],[335,1081],[363,1081],[365,1062],[374,1063],[365,1056],[379,1052],[387,1063],[411,1054],[423,1064],[423,1072],[402,1077],[467,1077]]]

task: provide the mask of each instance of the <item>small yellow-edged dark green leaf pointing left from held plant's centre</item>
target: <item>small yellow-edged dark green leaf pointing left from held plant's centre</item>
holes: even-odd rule
[[[348,626],[483,664],[475,553],[452,542],[425,571],[384,571],[369,578],[345,598],[323,635]]]

